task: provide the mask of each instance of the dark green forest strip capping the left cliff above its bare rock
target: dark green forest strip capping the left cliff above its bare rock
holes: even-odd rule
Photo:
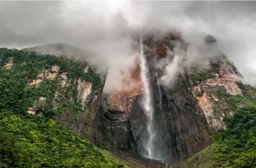
[[[96,74],[90,68],[87,73],[83,72],[83,68],[87,65],[86,62],[75,62],[69,59],[55,57],[54,55],[41,55],[35,52],[0,48],[0,66],[4,66],[11,57],[14,63],[13,69],[19,71],[19,74],[23,75],[24,78],[33,80],[43,69],[57,65],[61,67],[60,73],[68,72],[73,78],[81,78],[92,82],[95,89],[103,88],[99,74]]]

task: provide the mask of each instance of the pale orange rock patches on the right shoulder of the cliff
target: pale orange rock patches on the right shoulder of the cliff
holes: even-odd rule
[[[198,106],[203,110],[204,117],[209,126],[214,130],[226,128],[225,123],[222,121],[223,117],[225,114],[232,114],[232,112],[214,111],[214,106],[220,106],[220,104],[217,104],[219,100],[215,98],[212,92],[221,90],[232,95],[242,94],[242,89],[238,84],[241,82],[242,76],[224,55],[207,59],[205,62],[207,62],[204,64],[208,65],[208,69],[212,69],[212,66],[217,68],[211,72],[212,78],[198,81],[192,87],[192,93],[198,101]]]

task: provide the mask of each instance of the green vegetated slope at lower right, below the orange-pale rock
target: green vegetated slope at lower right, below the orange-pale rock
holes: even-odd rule
[[[256,89],[243,87],[246,88],[243,95],[214,93],[227,104],[219,106],[221,110],[235,113],[224,117],[227,129],[214,133],[215,142],[184,162],[182,167],[256,167]]]

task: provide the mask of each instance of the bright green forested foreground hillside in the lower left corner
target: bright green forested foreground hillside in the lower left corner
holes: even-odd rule
[[[0,114],[0,167],[122,167],[87,140],[34,115]]]

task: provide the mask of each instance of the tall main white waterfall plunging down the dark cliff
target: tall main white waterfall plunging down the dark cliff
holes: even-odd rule
[[[141,60],[141,80],[143,82],[144,94],[143,94],[143,108],[144,112],[147,116],[147,131],[148,131],[148,139],[146,143],[146,153],[144,154],[147,158],[154,159],[154,151],[153,151],[153,140],[154,140],[154,131],[153,131],[153,107],[151,100],[151,91],[149,88],[149,77],[148,77],[148,66],[145,56],[143,54],[143,43],[140,36],[140,60]]]

